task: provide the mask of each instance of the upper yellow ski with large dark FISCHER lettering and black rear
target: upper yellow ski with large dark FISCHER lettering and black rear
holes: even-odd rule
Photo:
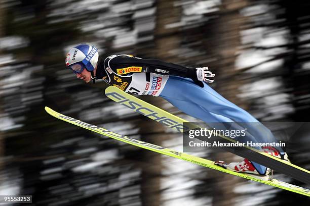
[[[121,89],[109,86],[105,89],[105,95],[112,99],[113,101],[138,112],[152,120],[155,120],[165,126],[168,126],[172,129],[177,130],[178,132],[185,132],[190,129],[198,128],[199,126],[189,124],[189,127],[183,127],[183,122],[188,122],[182,118],[179,118],[175,115],[172,115],[169,112],[166,112],[158,107],[155,107],[147,102],[128,94]],[[236,142],[234,139],[221,136],[223,142]],[[198,137],[198,139],[200,139]],[[201,139],[204,140],[204,139]],[[287,161],[273,157],[265,152],[260,152],[259,150],[244,146],[244,147],[225,147],[225,149],[231,153],[247,158],[251,161],[254,161],[258,164],[264,165],[268,168],[276,170],[280,173],[283,173],[287,176],[290,176],[296,180],[310,184],[310,172],[304,168],[298,167],[294,164],[291,164]]]

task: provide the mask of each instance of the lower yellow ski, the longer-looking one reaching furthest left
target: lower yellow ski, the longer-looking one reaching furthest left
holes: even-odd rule
[[[177,151],[177,150],[174,150],[174,149],[170,149],[170,148],[167,148],[167,147],[151,144],[151,143],[148,143],[148,142],[145,142],[145,141],[133,139],[133,138],[130,138],[128,136],[124,136],[124,135],[121,135],[121,134],[109,131],[109,130],[104,129],[102,127],[98,127],[98,126],[95,126],[95,125],[83,122],[81,120],[74,119],[72,117],[68,117],[66,115],[60,114],[60,113],[58,113],[58,112],[56,112],[56,111],[54,111],[54,110],[52,110],[52,109],[50,109],[48,107],[45,107],[45,110],[46,110],[46,112],[48,114],[50,114],[51,116],[53,116],[55,118],[58,118],[58,119],[63,120],[65,122],[68,122],[68,123],[71,123],[73,125],[82,127],[84,129],[88,129],[90,131],[99,133],[99,134],[104,135],[106,137],[113,138],[115,140],[126,142],[126,143],[134,145],[134,146],[138,146],[138,147],[141,147],[141,148],[144,148],[144,149],[148,149],[148,150],[151,150],[151,151],[154,151],[154,152],[161,153],[163,155],[167,155],[167,156],[170,156],[170,157],[173,157],[173,158],[177,158],[177,159],[180,159],[180,160],[188,161],[188,162],[191,162],[191,163],[194,163],[194,164],[197,164],[197,165],[201,165],[201,166],[204,166],[204,167],[207,167],[207,168],[211,168],[211,169],[214,169],[214,170],[218,170],[218,171],[221,171],[221,172],[224,172],[224,173],[228,173],[228,174],[235,175],[235,176],[238,176],[238,177],[242,177],[242,178],[245,178],[245,179],[253,180],[253,181],[260,182],[260,183],[263,183],[263,184],[267,184],[267,185],[270,185],[270,186],[278,187],[278,188],[281,188],[281,189],[284,189],[284,190],[288,190],[288,191],[291,191],[291,192],[295,192],[295,193],[298,193],[298,194],[302,194],[302,195],[305,195],[305,196],[310,196],[310,190],[306,189],[306,188],[303,188],[303,187],[292,185],[292,184],[289,184],[289,183],[286,183],[286,182],[282,182],[282,181],[279,181],[279,180],[276,180],[276,179],[268,180],[267,178],[260,177],[260,176],[255,176],[255,175],[251,175],[251,174],[238,173],[238,172],[226,170],[226,169],[224,169],[224,168],[222,168],[220,166],[214,165],[213,161],[210,161],[210,160],[207,160],[207,159],[203,159],[203,158],[199,158],[199,157],[196,157],[196,156],[192,156],[192,155],[189,155],[187,153],[183,153],[183,152],[180,152],[180,151]]]

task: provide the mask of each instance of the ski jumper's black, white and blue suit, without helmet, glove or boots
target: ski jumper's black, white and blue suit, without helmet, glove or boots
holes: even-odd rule
[[[99,61],[98,68],[98,79],[107,75],[105,81],[123,91],[161,96],[180,111],[204,121],[211,127],[212,123],[242,123],[247,132],[243,139],[236,138],[240,142],[277,141],[272,132],[248,112],[232,104],[205,82],[202,88],[189,79],[196,71],[195,68],[128,55],[110,56]],[[216,124],[216,127],[218,125]],[[283,151],[282,148],[277,149]],[[255,162],[252,164],[260,174],[265,173],[265,166]]]

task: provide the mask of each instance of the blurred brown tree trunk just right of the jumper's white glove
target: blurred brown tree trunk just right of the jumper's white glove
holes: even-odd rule
[[[247,6],[247,0],[224,0],[222,1],[220,16],[214,20],[210,31],[216,35],[212,39],[214,41],[208,42],[213,51],[214,56],[218,56],[220,63],[216,63],[218,69],[216,70],[217,79],[224,79],[217,83],[216,90],[228,100],[234,102],[236,105],[245,108],[243,102],[237,98],[238,88],[242,81],[237,79],[225,78],[225,76],[234,73],[236,54],[241,45],[240,31],[246,19],[240,15],[240,9]],[[215,66],[215,65],[214,65]],[[210,65],[212,68],[212,65]],[[225,162],[238,162],[235,155],[228,152],[217,153],[216,160],[224,160]],[[216,177],[215,187],[213,188],[213,205],[234,205],[236,196],[234,194],[234,187],[236,183],[240,182],[239,177],[231,177],[231,175],[224,175],[217,171],[212,171]],[[219,195],[220,194],[220,195]]]

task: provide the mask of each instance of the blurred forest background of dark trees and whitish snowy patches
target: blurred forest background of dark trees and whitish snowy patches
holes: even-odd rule
[[[309,205],[299,194],[135,148],[44,110],[182,149],[181,134],[109,100],[102,81],[85,84],[65,69],[68,49],[88,42],[101,56],[208,66],[211,86],[260,121],[307,122],[309,11],[309,1],[1,1],[0,194],[32,195],[33,205]],[[142,98],[195,121],[160,97]],[[296,141],[306,147],[309,135]],[[310,151],[290,159],[310,169]]]

